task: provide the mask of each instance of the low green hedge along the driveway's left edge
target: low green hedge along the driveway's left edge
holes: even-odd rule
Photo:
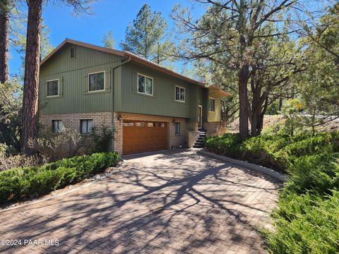
[[[92,174],[114,167],[117,152],[95,153],[46,164],[42,167],[19,167],[0,172],[0,203],[27,200],[77,183]]]

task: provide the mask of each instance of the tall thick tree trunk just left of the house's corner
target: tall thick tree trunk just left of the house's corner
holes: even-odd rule
[[[31,154],[28,140],[37,132],[37,104],[40,73],[40,30],[42,0],[28,0],[28,24],[25,55],[25,78],[23,84],[23,152]]]

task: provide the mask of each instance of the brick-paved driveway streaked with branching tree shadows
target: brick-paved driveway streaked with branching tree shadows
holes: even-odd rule
[[[268,224],[278,188],[268,176],[192,150],[130,158],[117,174],[88,188],[1,212],[0,238],[22,239],[22,245],[0,248],[4,253],[262,253],[255,228]],[[24,246],[24,239],[32,242]],[[58,240],[59,246],[45,240]]]

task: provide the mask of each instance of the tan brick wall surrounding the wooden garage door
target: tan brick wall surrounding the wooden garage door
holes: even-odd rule
[[[118,120],[118,116],[121,116],[121,120]],[[168,126],[168,135],[169,135],[169,144],[168,149],[172,147],[187,147],[187,121],[182,118],[174,118],[169,116],[153,116],[147,114],[133,114],[133,113],[124,113],[124,112],[114,112],[114,151],[117,151],[122,154],[122,144],[123,144],[123,121],[124,120],[134,120],[134,121],[162,121],[166,122]],[[175,119],[176,122],[180,123],[180,134],[174,134],[174,123],[172,121]]]

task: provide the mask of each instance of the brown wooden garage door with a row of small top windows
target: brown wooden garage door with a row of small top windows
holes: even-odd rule
[[[167,147],[167,123],[124,120],[123,153],[165,150]]]

